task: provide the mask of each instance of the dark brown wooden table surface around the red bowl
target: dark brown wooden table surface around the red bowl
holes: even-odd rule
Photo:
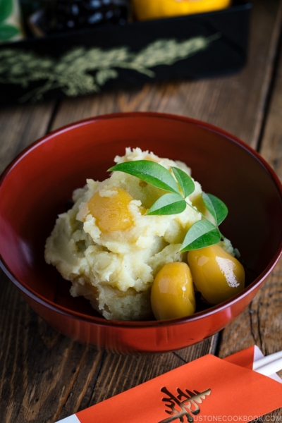
[[[0,109],[0,171],[31,142],[67,123],[113,112],[158,111],[233,133],[281,178],[281,21],[282,0],[254,1],[249,60],[236,75]],[[265,355],[282,350],[281,334],[281,263],[221,333],[175,353],[135,357],[98,352],[57,333],[1,272],[0,422],[54,423],[207,353],[226,357],[254,344]],[[281,422],[282,409],[262,421]]]

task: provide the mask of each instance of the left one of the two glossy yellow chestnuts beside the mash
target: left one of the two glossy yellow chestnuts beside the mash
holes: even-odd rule
[[[151,305],[157,320],[185,317],[195,312],[192,276],[186,263],[164,265],[154,278]]]

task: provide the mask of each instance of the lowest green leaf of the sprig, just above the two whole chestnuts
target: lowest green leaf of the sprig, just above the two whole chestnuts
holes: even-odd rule
[[[197,221],[186,233],[180,252],[209,247],[209,245],[219,243],[220,240],[221,233],[210,221]]]

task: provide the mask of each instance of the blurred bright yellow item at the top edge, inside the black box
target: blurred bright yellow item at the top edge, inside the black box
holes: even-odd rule
[[[231,0],[131,0],[138,20],[169,18],[218,11],[231,5]]]

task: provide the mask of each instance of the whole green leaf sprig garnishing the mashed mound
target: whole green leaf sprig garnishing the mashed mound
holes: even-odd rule
[[[161,164],[149,160],[125,161],[109,168],[109,171],[120,171],[136,176],[146,183],[166,191],[147,211],[148,215],[168,215],[184,212],[187,206],[199,211],[187,201],[195,190],[195,184],[187,173],[171,166],[171,172]],[[223,238],[219,225],[228,214],[228,208],[219,198],[202,192],[202,200],[214,218],[214,223],[203,214],[202,220],[195,222],[186,233],[180,252],[197,250],[219,243]]]

